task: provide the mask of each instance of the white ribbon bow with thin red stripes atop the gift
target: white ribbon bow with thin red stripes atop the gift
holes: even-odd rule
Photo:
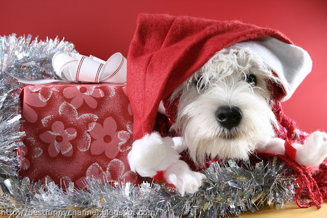
[[[23,80],[26,84],[45,84],[53,82],[92,82],[92,83],[126,83],[127,60],[121,53],[113,54],[107,61],[95,56],[57,52],[52,58],[55,74],[61,80]]]

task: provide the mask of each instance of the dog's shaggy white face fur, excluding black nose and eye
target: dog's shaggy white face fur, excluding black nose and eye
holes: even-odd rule
[[[256,86],[246,82],[250,74]],[[173,128],[181,132],[194,162],[202,164],[207,156],[246,160],[256,143],[274,137],[277,120],[269,105],[268,80],[277,82],[250,50],[225,49],[176,89],[172,98],[180,94],[180,100]],[[222,106],[240,108],[239,126],[227,130],[218,123],[216,111]]]

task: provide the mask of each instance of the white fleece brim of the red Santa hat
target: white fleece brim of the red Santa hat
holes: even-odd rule
[[[237,49],[247,47],[263,59],[271,69],[284,91],[282,101],[288,100],[312,68],[309,54],[301,47],[282,42],[271,36],[242,41],[231,45]]]

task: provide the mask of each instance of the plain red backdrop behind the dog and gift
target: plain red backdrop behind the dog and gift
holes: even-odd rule
[[[305,131],[327,131],[327,1],[3,1],[0,35],[57,35],[83,55],[127,56],[139,13],[168,13],[217,20],[238,19],[277,29],[313,60],[311,74],[284,109]]]

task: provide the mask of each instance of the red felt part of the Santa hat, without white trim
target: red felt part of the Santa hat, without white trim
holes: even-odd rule
[[[224,47],[282,33],[240,21],[141,14],[128,52],[127,89],[135,139],[152,131],[159,102]]]

